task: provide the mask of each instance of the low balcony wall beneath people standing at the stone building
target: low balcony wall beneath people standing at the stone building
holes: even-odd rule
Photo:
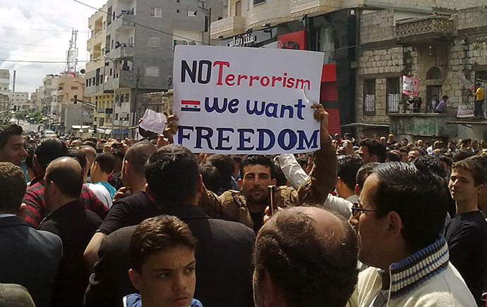
[[[456,120],[455,114],[389,113],[390,132],[421,137],[452,137],[457,135],[457,125],[447,125]]]

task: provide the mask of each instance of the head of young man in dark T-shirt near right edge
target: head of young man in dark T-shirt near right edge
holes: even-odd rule
[[[485,180],[486,170],[474,157],[453,163],[448,183],[452,199],[457,201],[457,204],[465,201],[476,203]]]

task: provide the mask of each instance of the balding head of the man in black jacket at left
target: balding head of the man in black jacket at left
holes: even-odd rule
[[[76,159],[61,157],[49,163],[44,175],[44,199],[49,210],[79,199],[83,187],[83,169]]]

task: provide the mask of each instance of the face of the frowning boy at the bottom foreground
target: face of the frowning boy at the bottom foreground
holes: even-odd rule
[[[149,256],[141,271],[128,274],[144,307],[188,307],[196,287],[195,254],[186,246]]]

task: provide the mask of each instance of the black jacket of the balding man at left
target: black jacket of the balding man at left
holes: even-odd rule
[[[57,234],[63,242],[64,256],[54,282],[51,306],[83,306],[83,296],[90,278],[83,253],[101,224],[100,216],[86,210],[80,201],[66,203],[49,213],[40,223],[40,230]]]

